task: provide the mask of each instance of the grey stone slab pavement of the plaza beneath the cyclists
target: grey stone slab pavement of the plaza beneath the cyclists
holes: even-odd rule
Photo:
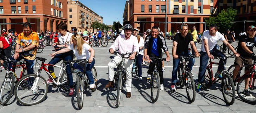
[[[108,47],[110,46],[109,43]],[[221,45],[222,43],[218,43]],[[172,42],[167,40],[167,47],[169,53],[172,53]],[[237,46],[237,43],[233,43]],[[197,44],[200,51],[201,44]],[[170,90],[171,75],[172,75],[172,57],[171,62],[165,62],[166,71],[164,72],[164,86],[165,89],[160,91],[158,101],[152,103],[149,81],[146,81],[147,68],[145,65],[142,68],[143,81],[139,81],[138,77],[132,78],[132,97],[126,98],[126,91],[122,93],[120,107],[115,108],[116,104],[116,91],[112,88],[105,89],[104,86],[108,82],[107,64],[114,55],[108,53],[108,47],[94,47],[96,63],[95,67],[98,75],[98,89],[91,92],[87,89],[84,93],[84,105],[81,110],[78,109],[76,103],[76,95],[67,96],[60,87],[53,88],[49,86],[44,101],[33,106],[23,106],[15,100],[15,96],[9,101],[6,106],[0,106],[0,113],[185,113],[185,112],[214,112],[214,113],[256,113],[256,105],[244,103],[237,96],[233,105],[226,105],[220,90],[220,82],[214,84],[210,89],[196,92],[196,100],[190,103],[187,99],[185,87],[177,88],[176,91]],[[43,53],[38,53],[38,57],[47,58],[46,63],[50,61],[48,54],[52,53],[53,47],[45,47]],[[256,51],[254,51],[256,52]],[[215,60],[217,61],[217,60]],[[229,59],[227,69],[233,64],[234,59]],[[58,63],[59,64],[59,63]],[[57,64],[57,65],[58,65]],[[36,70],[38,67],[36,67]],[[192,73],[195,75],[194,80],[197,84],[198,81],[199,58],[196,58],[195,65]],[[213,72],[216,72],[215,66]],[[19,69],[17,69],[19,71]],[[0,84],[2,84],[6,70],[0,72]],[[19,72],[17,72],[19,73]],[[17,74],[19,75],[19,74]],[[48,76],[42,73],[45,78]]]

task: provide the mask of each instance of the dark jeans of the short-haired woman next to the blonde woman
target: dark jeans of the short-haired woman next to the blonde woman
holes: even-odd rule
[[[62,53],[61,55],[57,55],[54,58],[52,58],[48,64],[56,65],[56,63],[60,62],[61,60],[64,60],[64,61],[73,60],[73,53],[66,52],[66,53]],[[69,65],[69,63],[65,63],[65,65],[66,65],[66,73],[67,73],[68,81],[69,81],[69,87],[73,88],[73,76],[71,73],[70,65]],[[49,66],[48,70],[49,70],[49,72],[50,71],[54,72],[54,69],[52,66]]]

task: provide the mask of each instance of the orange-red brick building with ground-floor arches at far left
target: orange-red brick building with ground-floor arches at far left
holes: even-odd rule
[[[34,31],[56,30],[60,22],[66,23],[67,0],[0,0],[0,23],[30,22]],[[1,29],[23,32],[22,25],[1,25]]]

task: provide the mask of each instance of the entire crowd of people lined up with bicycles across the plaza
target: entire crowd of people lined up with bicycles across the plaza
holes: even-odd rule
[[[125,87],[127,92],[127,98],[130,98],[132,96],[131,85],[132,67],[134,59],[137,59],[137,70],[140,81],[142,80],[142,64],[145,64],[145,62],[143,62],[143,59],[149,60],[150,58],[164,58],[165,53],[165,61],[169,62],[171,60],[166,44],[166,38],[162,35],[162,33],[160,33],[160,29],[155,26],[152,27],[152,29],[146,30],[146,32],[144,32],[143,34],[143,37],[139,35],[139,29],[133,29],[132,25],[130,24],[124,25],[123,31],[120,34],[118,34],[115,30],[114,32],[106,32],[106,35],[104,35],[99,28],[97,28],[97,32],[95,33],[88,32],[87,29],[85,29],[84,32],[77,32],[76,28],[72,29],[71,31],[68,31],[67,28],[67,24],[60,23],[57,25],[57,30],[59,33],[53,31],[41,31],[41,33],[39,33],[38,31],[32,31],[31,24],[26,22],[23,24],[23,32],[19,34],[17,34],[16,31],[13,33],[12,30],[8,30],[7,33],[6,30],[3,29],[1,34],[2,37],[0,37],[0,58],[4,59],[5,57],[7,57],[9,59],[17,61],[24,59],[27,64],[27,74],[34,74],[33,65],[34,59],[36,59],[37,46],[40,42],[47,40],[48,42],[51,42],[50,45],[55,48],[55,52],[49,54],[52,57],[52,59],[48,64],[55,65],[56,63],[62,60],[73,60],[73,55],[75,55],[77,59],[87,59],[90,64],[86,65],[86,71],[84,71],[84,74],[88,77],[90,84],[89,87],[95,88],[95,83],[90,71],[95,64],[95,52],[93,48],[89,45],[89,40],[90,38],[97,38],[101,47],[101,39],[107,38],[109,40],[112,36],[112,40],[114,40],[114,43],[109,47],[109,52],[111,54],[113,54],[114,51],[116,51],[116,49],[120,54],[130,53],[129,55],[127,55],[127,58],[124,59],[124,67],[126,72]],[[180,57],[189,57],[191,55],[194,55],[195,57],[200,57],[200,66],[198,70],[198,85],[196,91],[201,91],[202,86],[205,85],[204,77],[209,58],[226,58],[226,55],[223,53],[223,51],[221,52],[216,49],[216,44],[219,40],[222,41],[223,44],[227,46],[236,57],[234,63],[236,67],[232,73],[233,81],[231,81],[235,82],[237,72],[239,69],[241,69],[243,64],[251,66],[252,60],[256,60],[256,55],[254,54],[252,49],[256,43],[255,33],[256,27],[253,25],[249,26],[247,29],[247,35],[243,34],[240,36],[238,48],[237,51],[235,51],[235,49],[230,45],[229,42],[229,40],[234,40],[233,36],[229,36],[229,30],[227,30],[227,35],[223,36],[222,33],[218,31],[218,26],[216,24],[213,24],[209,27],[209,30],[204,31],[203,35],[201,36],[200,33],[197,33],[196,26],[193,26],[192,33],[188,33],[188,25],[181,25],[180,30],[177,30],[172,39],[172,81],[171,86],[166,87],[170,87],[171,91],[176,90],[176,86],[180,82],[179,80],[177,80],[177,71],[180,62]],[[171,31],[168,34],[169,36],[171,36]],[[196,47],[198,39],[201,39],[200,53],[197,51]],[[14,54],[11,54],[11,43],[13,42],[17,44],[15,45]],[[189,45],[191,46],[191,50],[189,49]],[[105,85],[105,88],[110,88],[111,86],[113,86],[114,67],[119,65],[121,60],[121,55],[117,54],[116,57],[114,57],[114,59],[108,63],[109,82]],[[194,58],[189,59],[189,70],[192,70],[194,62]],[[152,61],[149,64],[149,68],[147,71],[147,79],[151,79],[153,70],[155,68],[154,64],[155,61]],[[250,71],[250,66],[245,68],[245,73]],[[11,67],[12,63],[9,63],[8,70],[10,70]],[[65,68],[66,75],[68,77],[68,85],[70,89],[69,95],[72,96],[74,93],[74,84],[72,81],[73,78],[71,73],[71,67],[68,63],[66,63]],[[156,68],[160,75],[160,90],[164,90],[163,71],[165,71],[166,69],[164,68],[163,61],[156,63]],[[222,75],[219,73],[221,73],[220,69],[222,68],[223,59],[220,59],[218,70],[215,73],[215,76],[217,76],[220,79],[222,78]],[[4,69],[2,60],[0,69]],[[48,70],[50,73],[54,72],[52,66],[49,66]],[[54,79],[49,78],[47,80],[47,84],[52,84],[53,81]],[[245,81],[245,88],[243,91],[245,96],[250,96],[250,92],[248,91],[249,81],[250,78],[247,78]]]

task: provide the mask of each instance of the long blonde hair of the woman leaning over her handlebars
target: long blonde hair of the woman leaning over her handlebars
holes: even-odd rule
[[[82,55],[83,45],[84,45],[84,43],[86,43],[86,42],[85,42],[84,39],[83,39],[80,35],[78,35],[78,34],[72,35],[71,38],[72,38],[72,40],[76,41],[76,45],[73,44],[74,49],[76,48],[76,50],[78,51],[78,54],[79,54],[79,55]],[[88,44],[88,43],[86,43],[86,44]]]

